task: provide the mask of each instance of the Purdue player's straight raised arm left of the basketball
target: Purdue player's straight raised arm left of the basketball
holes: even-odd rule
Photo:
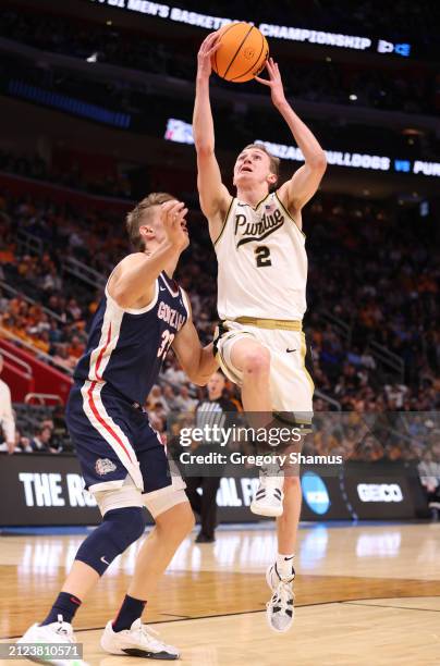
[[[211,57],[218,49],[218,34],[211,33],[204,40],[197,55],[196,98],[194,102],[193,135],[197,151],[197,187],[203,213],[208,218],[213,239],[221,231],[231,195],[221,182],[215,155],[215,133],[209,100]]]

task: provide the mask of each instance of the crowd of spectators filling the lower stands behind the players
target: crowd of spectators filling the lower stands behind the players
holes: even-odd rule
[[[440,261],[433,220],[421,223],[417,209],[335,195],[317,197],[304,217],[309,255],[305,329],[318,390],[316,427],[305,453],[342,455],[353,461],[417,462],[436,503]],[[207,343],[217,319],[216,260],[196,211],[191,213],[190,230],[192,245],[178,279],[191,296],[196,326]],[[40,238],[40,255],[23,250],[20,231]],[[62,258],[81,259],[105,275],[127,249],[120,214],[3,193],[0,334],[12,333],[17,344],[25,342],[35,354],[44,353],[46,360],[72,371],[84,350],[100,291],[91,292],[63,272]],[[401,360],[401,373],[383,366],[372,342]],[[236,387],[227,382],[227,391],[240,409]],[[154,427],[164,432],[170,414],[191,412],[203,396],[204,388],[192,385],[169,354],[160,384],[145,406]],[[342,412],[329,414],[328,397]],[[70,452],[62,410],[29,418],[35,409],[15,405],[15,453]],[[7,451],[5,443],[1,451]]]

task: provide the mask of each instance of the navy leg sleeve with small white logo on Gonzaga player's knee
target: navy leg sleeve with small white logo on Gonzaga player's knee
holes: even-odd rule
[[[108,566],[144,533],[147,518],[138,506],[107,511],[102,522],[80,546],[76,559],[102,576]]]

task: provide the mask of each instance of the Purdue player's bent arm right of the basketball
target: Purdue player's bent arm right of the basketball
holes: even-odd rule
[[[278,64],[270,58],[266,66],[269,78],[256,76],[256,79],[270,87],[272,103],[288,123],[305,161],[304,165],[293,174],[290,181],[280,187],[278,193],[288,210],[295,215],[318,189],[327,168],[327,159],[314,134],[297,116],[285,99]]]

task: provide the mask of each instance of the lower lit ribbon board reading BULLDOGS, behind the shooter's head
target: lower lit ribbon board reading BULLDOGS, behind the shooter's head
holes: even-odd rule
[[[176,144],[194,144],[193,127],[191,123],[175,118],[168,119],[164,138]],[[262,144],[276,157],[283,160],[302,162],[303,153],[296,146],[273,144],[256,139],[255,144]],[[365,152],[347,152],[346,150],[326,150],[327,162],[334,166],[349,169],[368,169],[371,171],[388,171],[399,173],[413,173],[426,176],[440,177],[440,162],[424,162],[421,160],[399,160],[387,156],[368,155]]]

